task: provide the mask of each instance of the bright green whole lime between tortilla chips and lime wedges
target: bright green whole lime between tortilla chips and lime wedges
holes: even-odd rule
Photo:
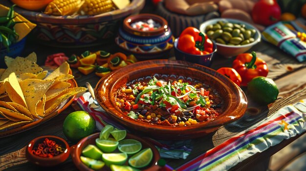
[[[63,132],[70,141],[80,139],[94,133],[96,122],[85,111],[76,111],[68,114],[63,124]]]

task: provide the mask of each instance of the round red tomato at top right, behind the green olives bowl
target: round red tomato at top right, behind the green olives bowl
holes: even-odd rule
[[[265,26],[276,23],[281,19],[281,8],[276,0],[260,0],[252,10],[252,19],[257,24]]]

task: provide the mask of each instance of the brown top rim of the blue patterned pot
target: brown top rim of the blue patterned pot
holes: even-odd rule
[[[155,22],[158,22],[161,26],[153,31],[141,31],[131,27],[131,23],[144,19],[153,19]],[[128,33],[136,36],[157,36],[163,34],[165,31],[168,30],[168,22],[166,21],[166,19],[154,14],[138,14],[124,19],[123,28]]]

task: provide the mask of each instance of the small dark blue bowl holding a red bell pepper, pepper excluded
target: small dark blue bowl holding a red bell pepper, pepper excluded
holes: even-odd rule
[[[174,43],[174,46],[175,46],[175,59],[176,60],[185,60],[185,61],[188,61],[188,62],[193,62],[193,63],[197,63],[197,64],[200,64],[200,65],[204,65],[204,66],[207,66],[207,67],[210,67],[211,65],[211,62],[213,60],[213,57],[215,56],[216,52],[217,52],[217,46],[216,46],[216,43],[213,41],[213,52],[210,53],[210,54],[207,54],[207,55],[193,55],[193,54],[187,54],[181,50],[179,50],[177,48],[177,42],[178,42],[179,38],[176,38],[175,39],[175,43]]]

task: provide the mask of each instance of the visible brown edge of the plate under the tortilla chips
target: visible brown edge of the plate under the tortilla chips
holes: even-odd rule
[[[70,72],[71,71],[69,71],[69,73]],[[71,84],[70,88],[78,87],[78,84],[77,84],[77,82],[75,81],[74,78],[68,80],[67,82],[69,82]],[[46,117],[44,117],[42,119],[39,119],[39,120],[34,121],[34,122],[31,122],[29,124],[22,125],[21,127],[13,128],[13,129],[5,131],[5,132],[0,132],[0,138],[6,137],[6,136],[9,136],[9,135],[13,135],[13,134],[16,134],[16,133],[21,133],[23,131],[27,131],[29,129],[32,129],[32,128],[34,128],[34,127],[44,123],[45,121],[47,121],[47,120],[53,118],[54,116],[60,114],[61,112],[63,112],[67,107],[70,106],[70,104],[73,102],[74,98],[75,98],[75,95],[70,97],[70,99],[66,102],[66,104],[62,108],[60,108],[57,111],[52,112],[51,114],[47,115]]]

